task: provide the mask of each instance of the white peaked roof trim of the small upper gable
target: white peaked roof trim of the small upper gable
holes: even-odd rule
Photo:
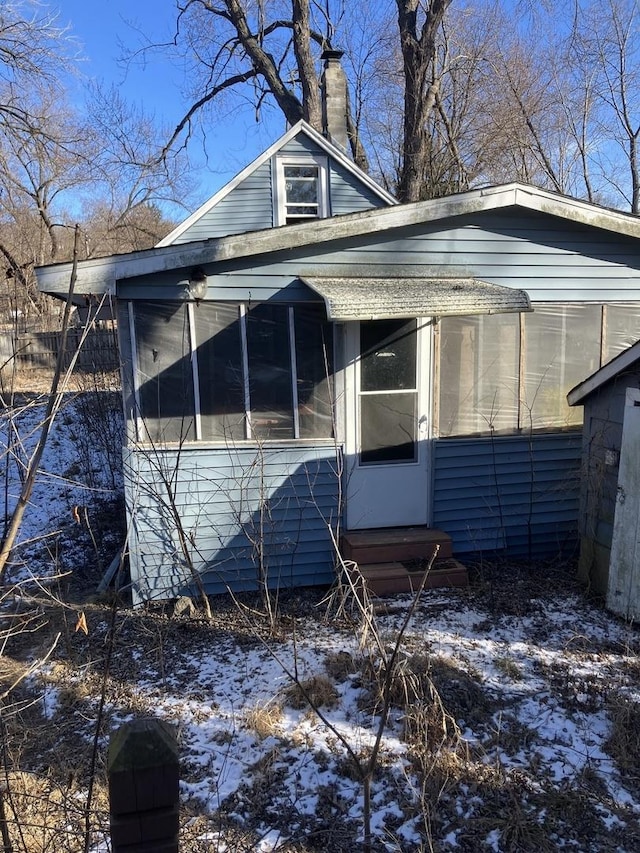
[[[354,175],[360,183],[364,184],[368,189],[370,189],[375,195],[377,195],[385,204],[395,205],[398,204],[397,199],[395,199],[391,193],[387,192],[383,189],[379,184],[377,184],[373,178],[363,172],[356,164],[347,157],[344,152],[342,152],[339,148],[329,142],[321,133],[318,133],[317,130],[311,127],[311,125],[307,124],[305,121],[299,121],[293,127],[291,127],[285,134],[283,134],[280,139],[277,139],[273,145],[267,148],[266,151],[263,151],[259,157],[249,163],[241,172],[239,172],[235,178],[229,181],[228,184],[225,184],[221,189],[218,190],[217,193],[211,196],[210,199],[204,202],[204,204],[200,205],[200,207],[194,211],[190,216],[188,216],[184,222],[181,222],[177,225],[173,231],[163,237],[159,243],[156,244],[157,248],[162,248],[163,246],[172,245],[175,240],[184,234],[192,225],[198,222],[203,216],[205,216],[209,211],[219,204],[223,198],[229,195],[239,184],[241,184],[249,175],[253,174],[260,166],[266,163],[274,154],[277,154],[282,148],[284,148],[287,143],[289,143],[296,136],[303,134],[307,136],[316,146],[318,146],[321,150],[323,150],[328,157],[335,160],[339,163],[347,172],[350,172]]]

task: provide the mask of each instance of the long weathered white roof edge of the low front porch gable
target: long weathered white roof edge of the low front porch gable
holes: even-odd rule
[[[393,229],[513,208],[544,213],[561,220],[640,240],[640,219],[637,216],[608,210],[526,184],[511,183],[469,190],[440,199],[253,231],[250,233],[250,239],[247,233],[236,234],[81,261],[77,270],[76,292],[115,294],[116,281],[134,276],[319,246],[334,240],[357,239]],[[640,250],[640,243],[638,248]],[[39,289],[45,293],[66,293],[71,269],[70,262],[38,267],[36,275]]]

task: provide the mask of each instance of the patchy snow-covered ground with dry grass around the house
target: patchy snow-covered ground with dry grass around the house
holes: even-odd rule
[[[16,578],[64,567],[86,591],[98,558],[74,507],[98,526],[94,498],[113,499],[119,482],[78,405],[52,434]],[[102,557],[117,545],[117,532],[110,540],[103,529]],[[589,602],[562,567],[485,566],[468,590],[425,592],[388,680],[384,721],[381,661],[406,597],[377,608],[380,652],[358,619],[336,616],[316,591],[285,595],[275,626],[250,596],[214,600],[210,623],[121,606],[112,625],[106,603],[69,587],[68,607],[41,605],[43,634],[60,630],[66,641],[23,685],[36,699],[29,724],[40,748],[22,769],[60,780],[72,771],[74,796],[86,796],[113,640],[101,754],[136,716],[175,725],[185,851],[358,850],[362,767],[379,731],[373,849],[640,849],[640,634]],[[64,627],[80,610],[87,635]],[[37,649],[16,640],[7,654]],[[64,819],[74,825],[68,810]],[[91,849],[108,850],[104,807],[94,821]],[[60,849],[81,849],[68,843]]]

